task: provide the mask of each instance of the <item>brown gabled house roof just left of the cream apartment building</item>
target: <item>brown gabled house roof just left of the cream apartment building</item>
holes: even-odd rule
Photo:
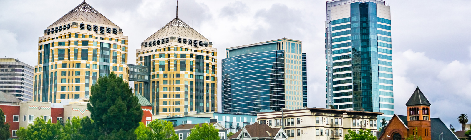
[[[245,125],[245,127],[236,133],[234,133],[231,137],[227,139],[235,139],[238,138],[240,133],[243,132],[243,130],[246,130],[247,133],[252,138],[271,138],[272,136],[276,136],[278,131],[280,131],[281,128],[271,128],[270,126],[266,124],[259,124],[257,122],[253,123],[252,125]],[[268,133],[271,133],[272,136],[268,135]]]

